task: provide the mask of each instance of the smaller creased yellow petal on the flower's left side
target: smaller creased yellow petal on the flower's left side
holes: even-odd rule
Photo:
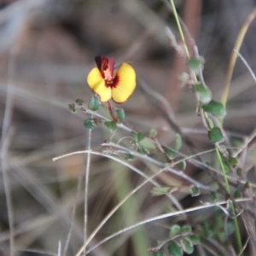
[[[87,83],[90,89],[101,98],[101,102],[108,102],[111,99],[111,89],[105,85],[105,80],[102,79],[102,74],[97,67],[88,74]]]

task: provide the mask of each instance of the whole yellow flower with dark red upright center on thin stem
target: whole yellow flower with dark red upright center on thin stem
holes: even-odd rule
[[[90,89],[101,99],[108,102],[111,98],[116,103],[126,102],[136,87],[136,74],[131,65],[122,63],[114,72],[114,58],[96,56],[97,67],[87,76]]]

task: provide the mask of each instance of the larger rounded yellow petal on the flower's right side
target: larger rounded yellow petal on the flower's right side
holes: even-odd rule
[[[116,103],[126,102],[136,87],[136,74],[127,63],[119,67],[115,79],[117,84],[112,88],[112,98]]]

